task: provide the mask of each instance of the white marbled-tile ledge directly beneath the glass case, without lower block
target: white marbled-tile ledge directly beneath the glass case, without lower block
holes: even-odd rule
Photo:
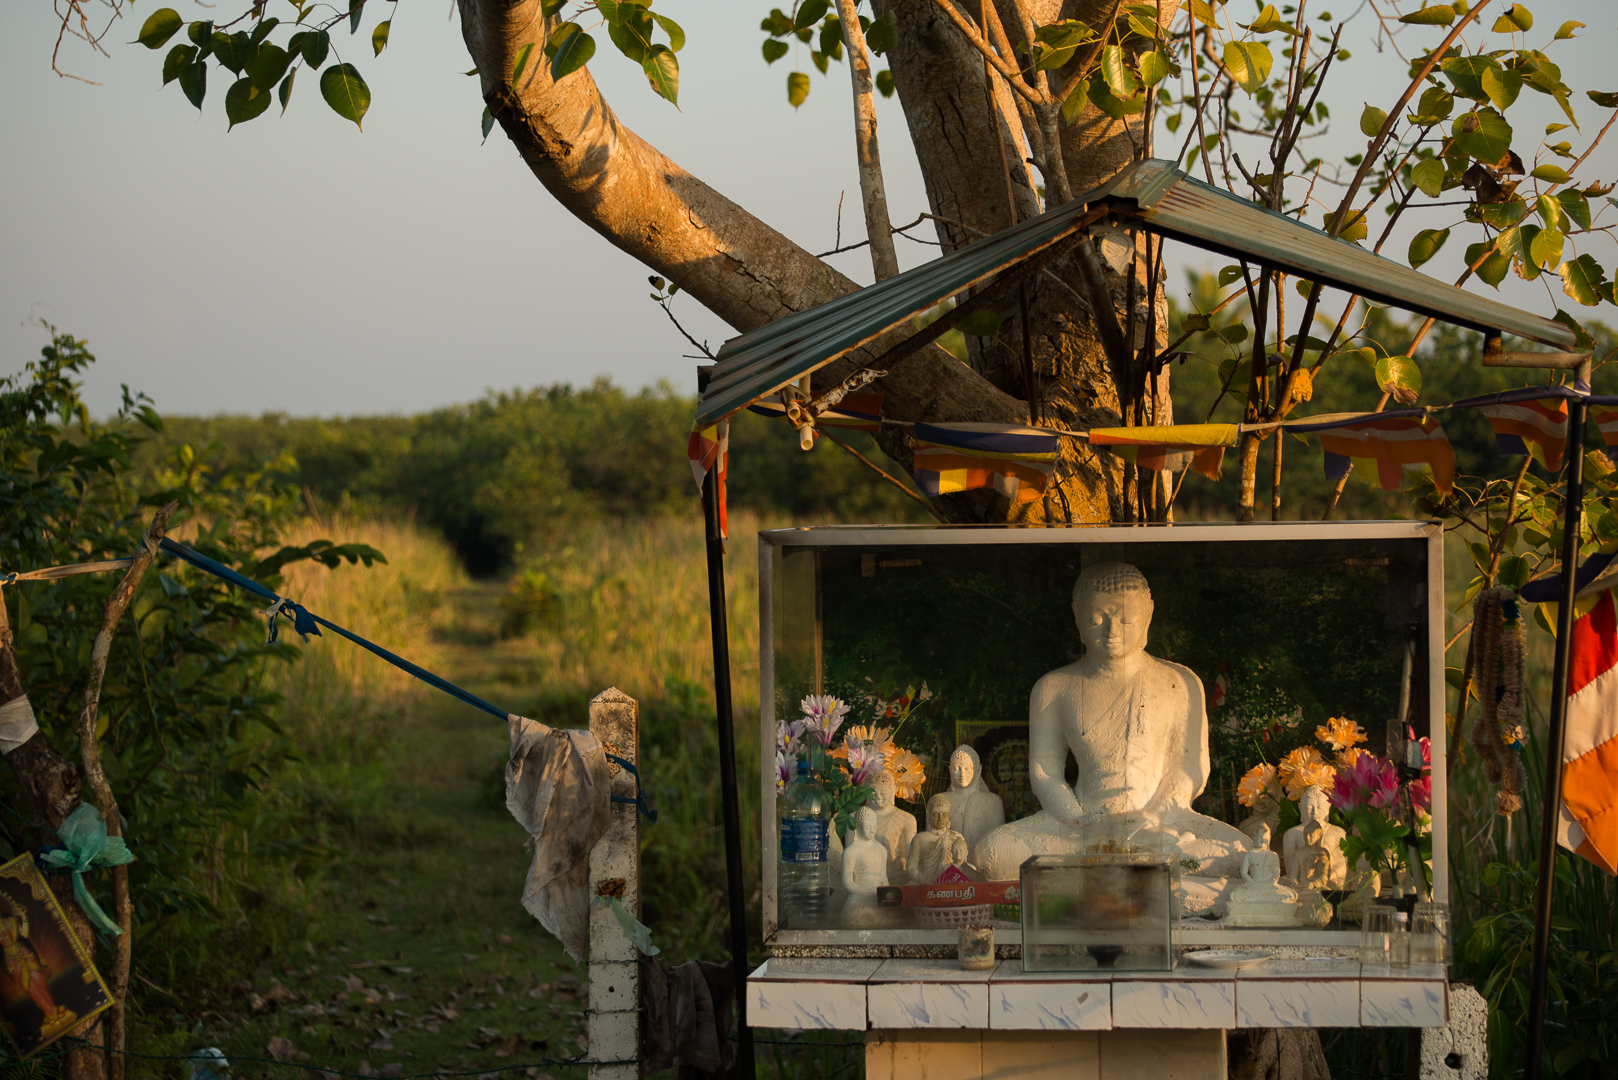
[[[1442,967],[1377,968],[1341,957],[1272,960],[1244,972],[1181,965],[1115,973],[1024,973],[1021,960],[963,972],[953,960],[773,957],[748,978],[748,1023],[760,1028],[955,1030],[989,1038],[990,1031],[1437,1028],[1448,1014]]]

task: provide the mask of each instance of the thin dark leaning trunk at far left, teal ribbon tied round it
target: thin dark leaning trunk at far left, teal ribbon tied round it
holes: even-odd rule
[[[0,706],[28,695],[23,674],[16,665],[16,649],[11,641],[11,620],[6,617],[5,596],[0,591]],[[28,798],[34,811],[34,827],[37,836],[31,842],[50,844],[57,839],[57,827],[66,821],[79,806],[79,769],[71,761],[57,753],[44,732],[34,732],[28,742],[5,756],[16,776],[18,787]],[[79,910],[79,902],[73,899],[71,874],[47,874],[50,891],[57,897],[57,905],[68,916],[68,925],[79,941],[94,952],[95,933],[91,921]],[[83,1040],[91,1046],[68,1052],[63,1064],[66,1080],[105,1080],[107,1057],[100,1049],[102,1043],[100,1017],[74,1028],[68,1038]]]

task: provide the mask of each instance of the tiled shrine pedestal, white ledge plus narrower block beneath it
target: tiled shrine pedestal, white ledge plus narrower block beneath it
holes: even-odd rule
[[[777,957],[748,980],[748,1022],[861,1030],[870,1080],[1223,1080],[1235,1028],[1443,1027],[1437,965],[1272,960],[1222,972],[1024,973],[1021,960]]]

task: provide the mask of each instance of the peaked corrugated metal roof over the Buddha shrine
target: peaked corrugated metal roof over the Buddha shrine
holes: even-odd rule
[[[1129,167],[1105,188],[1055,210],[898,277],[730,338],[720,348],[714,376],[697,403],[697,424],[720,421],[1047,249],[1086,227],[1091,212],[1102,206],[1162,236],[1272,266],[1377,303],[1557,348],[1574,343],[1573,332],[1560,322],[1434,280],[1194,180],[1170,162],[1150,159]]]

